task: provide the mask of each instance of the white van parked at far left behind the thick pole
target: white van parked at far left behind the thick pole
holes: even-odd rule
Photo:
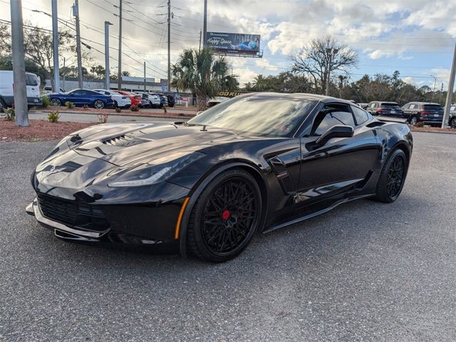
[[[0,71],[0,111],[2,108],[11,107],[14,103],[13,71]],[[34,73],[26,73],[27,102],[28,106],[41,105],[40,78]]]

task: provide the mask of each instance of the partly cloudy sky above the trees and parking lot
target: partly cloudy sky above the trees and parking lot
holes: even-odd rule
[[[415,86],[447,88],[456,41],[456,0],[208,0],[207,31],[261,35],[263,58],[229,57],[243,85],[255,75],[291,68],[290,56],[314,38],[332,35],[358,52],[350,80],[364,74],[400,71]],[[58,0],[58,17],[73,21],[73,0]],[[93,63],[104,65],[104,21],[110,21],[110,66],[118,65],[119,0],[79,0],[81,37],[93,46]],[[123,0],[123,70],[167,76],[167,1]],[[51,28],[51,0],[22,0],[24,20]],[[203,0],[171,0],[171,61],[184,47],[199,46]],[[0,19],[9,20],[9,0],[0,0]],[[95,51],[95,48],[98,51]],[[76,57],[68,56],[76,65]],[[437,81],[435,82],[435,76]]]

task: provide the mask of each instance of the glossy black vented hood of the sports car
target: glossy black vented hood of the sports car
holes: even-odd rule
[[[153,162],[174,152],[201,150],[219,140],[241,139],[232,130],[171,123],[96,125],[69,136],[68,148],[77,155],[125,167]],[[69,152],[69,151],[68,151]],[[63,152],[65,153],[65,152]]]

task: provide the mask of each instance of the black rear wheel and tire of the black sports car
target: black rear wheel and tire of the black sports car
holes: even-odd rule
[[[393,150],[380,172],[375,199],[384,203],[398,199],[404,186],[407,169],[408,160],[403,150]]]

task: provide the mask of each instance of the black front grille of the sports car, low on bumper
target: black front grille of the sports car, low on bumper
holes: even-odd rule
[[[103,211],[91,204],[36,194],[44,217],[92,232],[104,232],[110,224]]]

